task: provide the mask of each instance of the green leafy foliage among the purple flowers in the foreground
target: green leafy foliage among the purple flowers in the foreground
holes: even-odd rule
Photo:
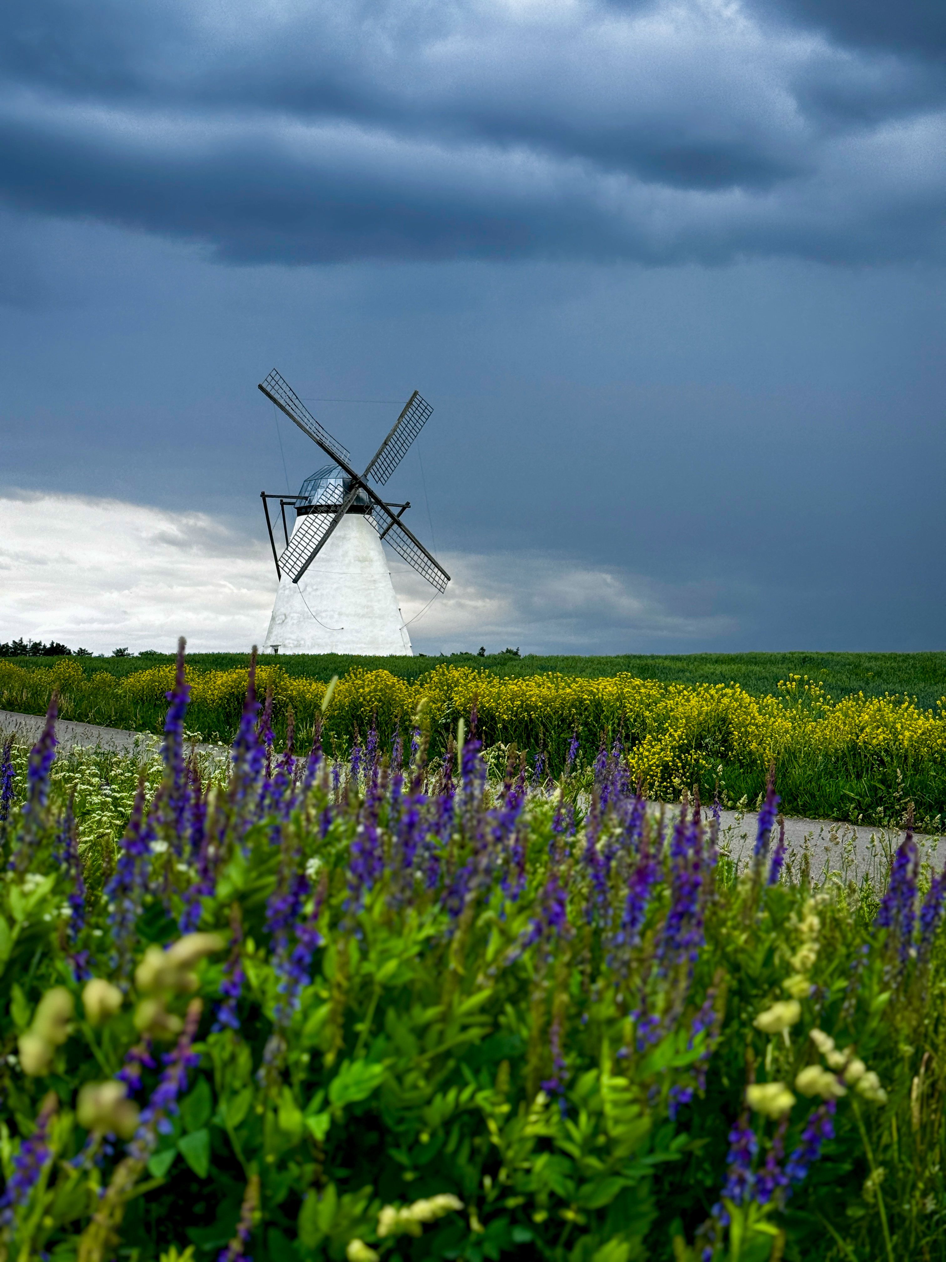
[[[127,769],[108,767],[124,784]],[[491,790],[468,770],[454,798],[447,772],[418,765],[412,786],[409,777],[394,793],[387,769],[336,785],[323,764],[285,801],[221,780],[204,799],[212,861],[189,848],[189,833],[174,833],[159,795],[135,963],[149,943],[178,938],[198,880],[199,929],[219,935],[188,965],[193,977],[160,983],[141,969],[119,974],[117,895],[103,892],[96,867],[95,817],[87,837],[79,825],[88,896],[76,938],[61,824],[47,813],[39,834],[5,828],[4,859],[20,857],[0,885],[8,1186],[30,1137],[47,1146],[3,1229],[8,1256],[211,1262],[240,1244],[243,1222],[255,1262],[357,1262],[372,1252],[388,1262],[695,1259],[708,1239],[699,1232],[718,1222],[734,1123],[753,1127],[757,1171],[780,1142],[786,1153],[803,1142],[817,1099],[796,1092],[778,1140],[776,1119],[745,1111],[745,1088],[792,1087],[819,1063],[817,1029],[839,1049],[856,1047],[887,1099],[854,1088],[839,1099],[834,1137],[807,1177],[783,1203],[732,1203],[714,1257],[946,1257],[941,934],[917,938],[911,954],[893,930],[874,928],[872,888],[767,886],[761,867],[737,876],[714,864],[701,838],[687,861],[700,881],[686,923],[698,928],[674,954],[684,868],[656,818],[632,827],[612,803],[583,822],[589,803],[563,780],[536,790],[498,844],[513,784]],[[169,772],[165,795],[172,787]],[[431,829],[410,862],[400,796],[409,789]],[[434,832],[448,808],[452,823]],[[371,882],[358,858],[368,833]],[[111,854],[111,872],[126,853],[120,844]],[[631,934],[622,917],[642,856],[656,868]],[[281,899],[296,900],[288,938],[276,923]],[[221,1027],[237,967],[237,1027]],[[124,988],[102,1022],[90,1015],[83,973]],[[757,1018],[800,973],[798,1018],[787,1036],[763,1032]],[[57,987],[73,1016],[50,1045],[48,1071],[30,1076],[18,1049]],[[199,1021],[193,1042],[184,1034],[178,1045],[194,1063],[177,1104],[160,1124],[143,1114],[126,1150],[85,1129],[79,1092],[129,1063],[153,1002]],[[174,1047],[173,1037],[155,1040],[159,1056]],[[140,1104],[155,1099],[161,1070],[160,1060],[145,1069]]]

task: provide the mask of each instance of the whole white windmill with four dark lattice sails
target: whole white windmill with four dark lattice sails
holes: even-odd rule
[[[410,636],[381,541],[438,592],[445,591],[450,575],[401,520],[410,502],[387,504],[368,478],[385,486],[433,408],[415,390],[368,467],[356,473],[348,451],[323,429],[275,369],[259,389],[332,461],[308,477],[296,496],[260,492],[279,578],[264,649],[410,655]],[[280,554],[270,500],[280,501],[285,538]],[[296,515],[291,531],[286,507]]]

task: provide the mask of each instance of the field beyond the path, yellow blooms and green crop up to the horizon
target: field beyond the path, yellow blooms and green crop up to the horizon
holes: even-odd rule
[[[774,659],[793,665],[795,658]],[[737,659],[641,659],[662,663],[687,679],[641,674],[536,673],[534,661],[465,656],[459,659],[385,659],[385,669],[329,661],[341,681],[324,714],[327,748],[339,756],[375,727],[390,742],[424,708],[435,753],[447,750],[457,718],[476,705],[479,732],[501,757],[515,745],[558,775],[571,758],[585,776],[603,755],[619,747],[634,780],[651,798],[680,800],[699,790],[724,806],[753,806],[764,795],[774,765],[783,808],[793,815],[870,825],[901,824],[912,811],[917,828],[938,832],[946,814],[946,711],[937,671],[943,655],[839,655],[831,693],[817,678],[776,678],[772,659],[740,658],[744,680],[713,681],[710,663]],[[889,660],[888,660],[889,659]],[[368,661],[370,659],[363,659]],[[575,659],[579,663],[622,659]],[[285,738],[293,714],[296,747],[308,750],[327,683],[322,659],[267,658],[259,666],[261,689],[272,690],[272,723]],[[24,665],[24,663],[28,663]],[[217,664],[214,664],[217,663]],[[873,664],[877,671],[870,671]],[[397,666],[395,674],[388,666]],[[817,670],[817,663],[812,663]],[[108,669],[102,669],[102,668]],[[412,674],[407,674],[407,670]],[[750,669],[752,668],[752,669]],[[228,743],[237,728],[248,661],[231,666],[218,658],[188,659],[192,690],[189,724],[197,740]],[[590,668],[588,668],[590,670]],[[754,671],[754,674],[753,674]],[[826,668],[820,670],[824,676]],[[63,718],[134,731],[159,732],[173,664],[153,659],[21,659],[0,661],[0,708],[44,713],[58,690]],[[851,690],[875,676],[873,692]],[[906,680],[926,679],[925,704],[906,695]],[[901,685],[898,692],[894,687]]]

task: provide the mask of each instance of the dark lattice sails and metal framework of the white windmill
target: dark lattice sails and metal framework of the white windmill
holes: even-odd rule
[[[430,404],[415,390],[404,405],[400,416],[391,427],[387,438],[385,438],[373,459],[368,463],[368,467],[363,473],[356,473],[351,464],[348,449],[337,442],[315,420],[295,390],[275,369],[260,382],[259,389],[280,411],[289,416],[293,424],[298,425],[304,434],[320,447],[347,477],[347,490],[344,490],[344,482],[328,481],[322,485],[313,498],[307,498],[304,505],[296,501],[296,507],[300,510],[304,509],[305,515],[293,533],[291,539],[288,539],[284,551],[276,558],[276,572],[280,575],[285,574],[294,583],[298,583],[332,538],[333,531],[344,515],[349,511],[361,511],[375,528],[378,538],[390,544],[401,560],[405,560],[428,583],[435,587],[438,592],[447,591],[450,575],[401,520],[401,515],[410,507],[410,504],[386,504],[368,485],[368,478],[372,478],[378,486],[385,486],[434,410]],[[341,500],[339,488],[342,488]],[[290,496],[280,500],[283,510],[285,510],[285,505],[293,498]],[[270,519],[266,500],[267,496],[262,493],[262,502],[266,509],[266,524],[269,526]],[[394,511],[395,509],[397,509],[397,512]],[[272,544],[275,557],[276,548],[272,541],[271,528],[270,543]]]

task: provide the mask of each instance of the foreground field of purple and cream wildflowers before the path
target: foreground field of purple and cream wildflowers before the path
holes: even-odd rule
[[[909,833],[815,886],[769,784],[739,870],[631,748],[552,780],[459,702],[440,756],[429,699],[332,758],[352,678],[305,756],[252,675],[190,755],[183,658],[160,760],[3,747],[4,1257],[946,1258]]]

